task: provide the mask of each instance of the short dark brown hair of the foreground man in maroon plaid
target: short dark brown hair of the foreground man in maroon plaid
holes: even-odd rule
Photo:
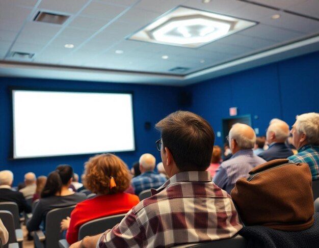
[[[202,117],[187,111],[176,111],[156,123],[167,147],[182,171],[205,171],[211,159],[215,134]]]

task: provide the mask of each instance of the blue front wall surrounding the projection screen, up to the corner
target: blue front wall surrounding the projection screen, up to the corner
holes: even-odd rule
[[[133,84],[111,84],[103,82],[64,81],[25,78],[0,78],[0,170],[14,173],[14,185],[23,181],[26,172],[33,171],[37,176],[47,175],[58,164],[70,164],[78,174],[83,172],[83,164],[92,155],[74,155],[49,158],[8,159],[12,149],[12,109],[10,87],[25,87],[47,90],[89,90],[89,91],[132,91],[135,124],[136,151],[117,153],[130,167],[143,153],[149,152],[161,161],[155,141],[159,138],[154,128],[157,121],[179,109],[177,97],[179,87],[148,86]],[[86,117],[88,118],[88,117]],[[90,117],[89,117],[90,118]],[[94,117],[92,117],[94,118]],[[144,123],[152,128],[146,130]]]

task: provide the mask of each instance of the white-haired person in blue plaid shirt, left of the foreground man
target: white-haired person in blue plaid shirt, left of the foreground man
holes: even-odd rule
[[[139,195],[145,189],[156,188],[166,182],[166,177],[154,172],[156,159],[152,154],[143,154],[140,157],[139,163],[141,175],[131,180],[131,185],[136,195]]]

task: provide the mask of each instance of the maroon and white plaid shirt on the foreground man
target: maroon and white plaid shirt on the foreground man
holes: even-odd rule
[[[209,172],[181,172],[151,191],[97,247],[171,247],[230,238],[242,229],[230,196]]]

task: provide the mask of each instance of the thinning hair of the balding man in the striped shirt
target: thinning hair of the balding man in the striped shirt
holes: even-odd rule
[[[253,137],[249,138],[245,135],[244,132],[241,130],[241,126],[246,125],[242,123],[236,123],[232,126],[229,131],[229,137],[231,139],[236,140],[238,147],[241,149],[253,149],[256,143],[256,133],[253,131]],[[249,127],[247,125],[247,127]]]

